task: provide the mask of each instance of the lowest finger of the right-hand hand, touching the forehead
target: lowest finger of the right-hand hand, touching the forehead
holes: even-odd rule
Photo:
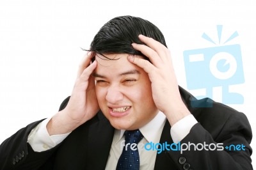
[[[143,70],[145,70],[145,72],[147,72],[148,74],[150,74],[153,70],[156,69],[156,67],[154,65],[152,65],[146,59],[134,58],[134,56],[128,56],[128,60],[131,63],[134,63],[135,65],[140,66],[141,68],[143,68]]]

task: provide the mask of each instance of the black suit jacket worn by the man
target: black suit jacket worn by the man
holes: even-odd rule
[[[252,130],[246,116],[209,98],[196,100],[180,88],[182,100],[198,123],[180,143],[244,144],[245,151],[163,151],[152,169],[252,169]],[[60,106],[64,109],[69,98]],[[212,107],[192,107],[212,104]],[[0,169],[105,169],[115,129],[101,111],[58,146],[40,153],[27,143],[28,134],[40,121],[31,123],[6,139],[0,146]],[[160,143],[173,143],[166,121]]]

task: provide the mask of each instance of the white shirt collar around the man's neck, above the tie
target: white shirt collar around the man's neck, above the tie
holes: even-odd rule
[[[148,143],[159,143],[165,121],[166,116],[163,112],[159,111],[155,118],[140,128],[141,134],[143,134]],[[125,130],[121,129],[117,131],[118,140],[116,143],[122,139]]]

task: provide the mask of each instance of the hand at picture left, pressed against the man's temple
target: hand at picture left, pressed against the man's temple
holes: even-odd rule
[[[77,72],[77,79],[67,107],[55,114],[47,124],[49,135],[67,134],[84,122],[90,120],[99,111],[92,72],[97,66],[92,64],[92,52],[84,56]]]

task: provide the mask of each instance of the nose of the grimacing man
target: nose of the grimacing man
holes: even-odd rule
[[[118,86],[109,86],[108,92],[106,95],[106,100],[110,104],[117,104],[124,98],[123,93],[120,91]]]

